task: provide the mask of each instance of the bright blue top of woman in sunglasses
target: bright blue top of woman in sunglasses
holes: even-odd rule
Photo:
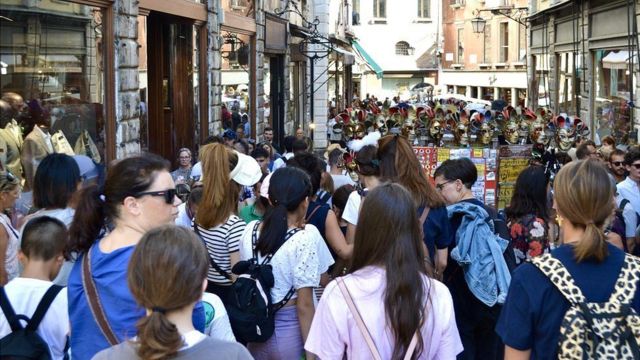
[[[127,246],[103,253],[96,242],[91,251],[91,273],[100,303],[111,329],[122,342],[136,335],[136,322],[146,316],[127,286],[127,267],[135,246]],[[99,351],[110,347],[98,327],[82,286],[82,255],[73,265],[69,276],[69,322],[71,323],[71,351],[74,359],[91,359]],[[204,309],[198,303],[194,309],[194,325],[204,331]],[[198,314],[198,316],[196,316]]]

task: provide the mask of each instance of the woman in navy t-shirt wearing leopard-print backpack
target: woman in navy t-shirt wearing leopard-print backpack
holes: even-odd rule
[[[615,188],[607,170],[596,161],[572,161],[560,169],[553,189],[563,245],[514,271],[496,327],[506,345],[505,359],[567,358],[559,356],[563,351],[570,351],[572,358],[637,359],[637,353],[634,356],[627,352],[629,347],[621,349],[623,340],[632,341],[635,337],[637,350],[638,333],[633,334],[629,328],[632,322],[626,314],[632,314],[630,309],[640,313],[640,260],[607,243],[604,230],[615,208]],[[612,297],[614,291],[620,295]],[[568,300],[567,292],[571,297],[583,298],[579,301],[581,309],[591,309],[590,303],[599,303],[604,308],[595,321],[589,320],[593,315],[583,313],[581,319],[590,324],[577,325],[581,329],[598,331],[603,324],[612,323],[607,321],[611,311],[617,313],[610,318],[615,325],[605,325],[608,339],[601,340],[619,343],[610,347],[606,355],[585,353],[599,348],[596,342],[586,340],[587,336],[576,336],[578,340],[573,339],[570,347],[558,346],[564,343],[563,332],[580,330],[564,327],[568,323],[567,311],[576,303],[575,298]],[[623,354],[627,357],[620,356]]]

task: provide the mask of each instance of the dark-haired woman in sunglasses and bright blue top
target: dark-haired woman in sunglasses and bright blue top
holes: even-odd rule
[[[169,164],[153,154],[120,160],[104,189],[90,186],[79,198],[70,228],[70,250],[78,254],[68,282],[71,351],[91,359],[135,336],[145,311],[127,287],[127,264],[147,231],[175,220],[180,200]],[[201,305],[194,314],[203,330]]]

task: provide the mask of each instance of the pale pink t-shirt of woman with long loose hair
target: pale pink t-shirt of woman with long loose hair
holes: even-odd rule
[[[380,356],[391,358],[393,335],[384,312],[384,269],[368,266],[347,275],[344,282],[371,333]],[[427,278],[425,277],[425,280]],[[423,351],[419,359],[455,359],[462,352],[449,289],[430,281],[430,303],[422,327]],[[417,314],[416,310],[416,314]],[[336,281],[327,285],[316,309],[305,349],[322,360],[371,359],[371,353],[351,315]]]

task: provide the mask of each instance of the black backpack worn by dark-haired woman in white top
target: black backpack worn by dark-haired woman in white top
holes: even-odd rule
[[[278,303],[271,299],[271,288],[274,285],[272,267],[269,264],[273,254],[269,254],[262,262],[258,261],[256,250],[257,222],[252,233],[253,258],[238,262],[233,273],[239,275],[232,285],[231,295],[225,303],[231,329],[238,341],[265,342],[271,338],[275,329],[274,315],[293,296],[292,287],[287,295]],[[301,229],[291,229],[285,235],[285,242]]]

